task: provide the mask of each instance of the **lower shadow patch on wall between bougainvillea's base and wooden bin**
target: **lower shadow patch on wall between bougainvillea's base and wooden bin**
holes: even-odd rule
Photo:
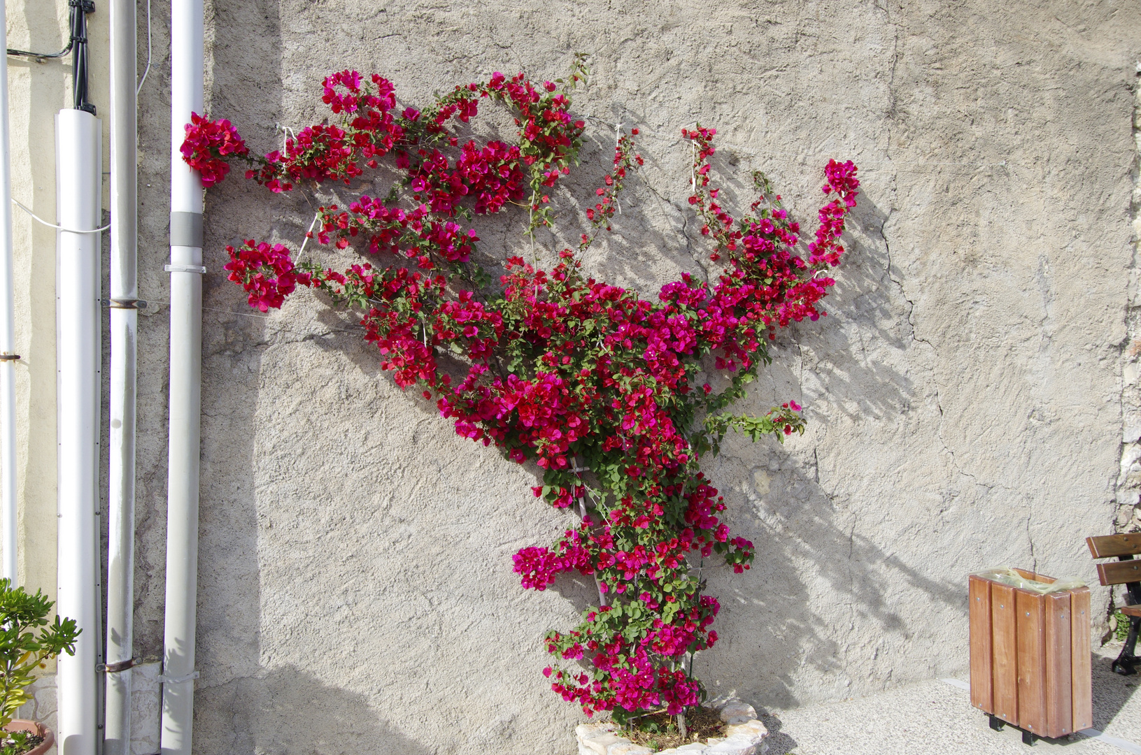
[[[900,596],[965,611],[962,587],[924,576],[857,534],[853,517],[804,470],[783,465],[754,472],[751,511],[731,519],[756,543],[753,568],[710,569],[722,642],[698,659],[698,673],[711,695],[731,690],[776,708],[803,704],[798,689],[809,681],[831,697],[882,688],[895,669],[875,659],[898,656],[912,639]]]

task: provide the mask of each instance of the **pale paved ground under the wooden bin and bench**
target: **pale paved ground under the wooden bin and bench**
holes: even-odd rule
[[[1124,740],[1120,746],[1078,733],[1038,740],[1030,749],[1017,729],[992,731],[966,690],[932,680],[859,700],[763,714],[771,732],[768,755],[1141,754],[1141,693],[1135,693],[1141,674],[1109,671],[1119,650],[1114,643],[1093,656],[1093,726]]]

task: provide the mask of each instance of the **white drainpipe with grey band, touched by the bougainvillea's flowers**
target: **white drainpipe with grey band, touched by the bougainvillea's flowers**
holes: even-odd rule
[[[179,147],[202,113],[202,0],[171,1],[170,461],[167,478],[167,615],[162,755],[191,755],[199,561],[202,393],[202,181]]]

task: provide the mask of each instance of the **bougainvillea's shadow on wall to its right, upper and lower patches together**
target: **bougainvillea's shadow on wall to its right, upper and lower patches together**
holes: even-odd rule
[[[909,306],[889,270],[887,216],[861,196],[851,219],[853,243],[845,244],[848,259],[826,301],[830,316],[778,336],[774,364],[739,411],[759,414],[803,391],[810,436],[839,423],[938,422],[937,397],[917,397],[921,389],[893,366],[915,341]],[[835,699],[882,689],[893,675],[901,681],[955,665],[924,658],[915,659],[921,671],[897,671],[876,663],[909,655],[916,606],[937,620],[965,616],[964,587],[932,578],[861,534],[893,525],[891,512],[857,510],[848,495],[830,494],[820,465],[831,460],[817,453],[737,438],[707,465],[726,496],[727,521],[758,547],[743,575],[707,570],[709,592],[722,604],[722,641],[696,668],[711,695],[731,690],[759,707],[788,708],[808,701],[796,691],[806,683],[816,698]]]

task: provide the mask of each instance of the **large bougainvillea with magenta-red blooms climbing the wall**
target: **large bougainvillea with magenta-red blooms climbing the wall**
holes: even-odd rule
[[[719,558],[741,573],[754,554],[721,521],[725,503],[699,462],[731,429],[754,440],[803,432],[795,401],[760,417],[725,409],[770,360],[777,328],[824,314],[859,181],[851,162],[828,162],[826,203],[801,250],[799,225],[761,173],[756,201],[730,214],[711,185],[714,130],[683,129],[695,155],[689,203],[720,271],[710,282],[682,275],[646,300],[590,277],[580,259],[609,229],[617,195],[642,163],[631,129],[585,211],[577,249],[548,270],[509,257],[495,282],[472,260],[471,222],[520,206],[532,240],[553,224],[552,187],[582,144],[585,124],[569,108],[585,75],[582,56],[565,80],[494,73],[418,111],[398,109],[388,80],[343,71],[323,82],[333,121],[300,130],[283,151],[252,156],[228,121],[195,114],[183,154],[207,185],[241,162],[272,192],[353,186],[381,161],[399,171],[385,197],[322,206],[308,234],[315,245],[353,246],[361,262],[334,270],[250,240],[226,247],[229,279],[261,311],[299,286],[353,309],[398,385],[434,399],[459,435],[537,464],[534,495],[574,510],[576,522],[551,546],[515,554],[515,571],[534,590],[578,571],[599,596],[577,626],[547,635],[555,661],[543,673],[588,714],[674,715],[702,699],[693,653],[717,642],[719,604],[703,594],[696,567]],[[455,122],[489,103],[513,114],[513,144],[458,136]],[[714,373],[728,376],[719,390],[703,378]]]

